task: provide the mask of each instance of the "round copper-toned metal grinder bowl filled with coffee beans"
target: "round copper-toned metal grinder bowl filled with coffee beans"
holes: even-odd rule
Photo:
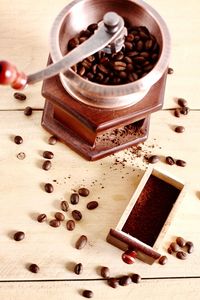
[[[60,73],[66,92],[99,108],[133,105],[167,71],[170,34],[162,17],[141,0],[75,0],[55,19],[50,47],[53,62],[89,39],[103,16],[114,11],[125,22],[127,34],[119,52],[97,51]]]

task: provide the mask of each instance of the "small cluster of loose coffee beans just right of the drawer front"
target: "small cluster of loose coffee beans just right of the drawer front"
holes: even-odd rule
[[[194,251],[194,244],[179,236],[175,242],[169,245],[167,251],[169,254],[175,254],[178,259],[185,260],[188,257],[187,254],[191,254]]]

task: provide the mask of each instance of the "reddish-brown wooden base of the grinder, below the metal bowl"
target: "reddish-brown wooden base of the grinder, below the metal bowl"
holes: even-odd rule
[[[51,61],[49,60],[49,63]],[[88,160],[97,160],[147,139],[150,114],[163,105],[167,72],[138,103],[121,109],[86,105],[63,88],[59,76],[43,83],[42,125]]]

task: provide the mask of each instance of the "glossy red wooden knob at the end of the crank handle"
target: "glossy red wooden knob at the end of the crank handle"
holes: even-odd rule
[[[27,76],[18,72],[17,68],[9,62],[0,61],[0,84],[11,85],[14,89],[23,89],[27,84]]]

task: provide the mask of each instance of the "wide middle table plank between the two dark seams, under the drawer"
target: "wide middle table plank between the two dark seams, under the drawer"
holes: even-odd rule
[[[184,119],[186,126],[183,134],[177,134],[170,128],[174,121],[177,122],[170,112],[156,113],[151,120],[149,139],[141,145],[141,157],[136,158],[130,150],[125,150],[97,162],[85,161],[61,143],[48,145],[49,134],[40,126],[41,112],[34,111],[32,116],[26,117],[23,112],[9,111],[1,112],[0,116],[1,279],[76,279],[73,266],[77,262],[82,262],[85,266],[81,278],[99,278],[98,267],[102,264],[109,266],[112,274],[117,276],[133,270],[143,277],[200,274],[200,253],[197,249],[184,262],[170,256],[169,263],[165,266],[155,263],[150,267],[140,261],[127,266],[121,260],[122,252],[106,242],[110,228],[116,226],[147,167],[143,155],[153,153],[161,155],[162,160],[158,163],[160,169],[168,170],[177,178],[191,183],[189,193],[160,245],[159,252],[166,254],[169,243],[177,235],[192,240],[198,247],[198,112],[190,112],[181,119]],[[22,145],[13,142],[13,136],[17,134],[24,139]],[[44,150],[55,153],[53,167],[48,172],[41,169]],[[20,151],[26,153],[25,160],[16,158]],[[166,155],[187,160],[187,167],[166,165]],[[116,165],[116,159],[121,163]],[[127,160],[124,166],[123,159]],[[44,192],[45,182],[53,182],[54,193]],[[88,187],[91,193],[88,198],[82,198],[78,206],[70,207],[70,210],[78,208],[83,213],[83,219],[74,232],[68,232],[64,224],[61,228],[51,228],[48,224],[39,224],[35,220],[38,213],[46,213],[48,219],[52,218],[59,210],[60,201],[69,200],[71,192],[80,186]],[[99,207],[95,211],[86,209],[86,203],[90,200],[99,201]],[[69,212],[67,219],[70,217]],[[12,239],[16,230],[25,231],[25,240],[15,242]],[[80,234],[86,234],[89,243],[84,249],[76,250],[74,245]],[[32,262],[41,267],[41,272],[36,276],[27,270],[28,264]]]

